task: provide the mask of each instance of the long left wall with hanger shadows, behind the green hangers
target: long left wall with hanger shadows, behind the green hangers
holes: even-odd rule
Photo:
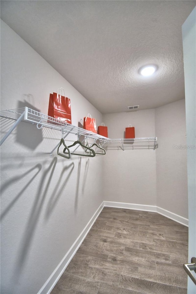
[[[50,92],[63,87],[72,123],[102,115],[1,21],[1,110],[29,106],[47,114]],[[10,123],[1,119],[1,136]],[[66,160],[48,153],[56,130],[21,122],[1,146],[1,293],[35,294],[103,201],[103,158]],[[76,138],[70,137],[73,141]]]

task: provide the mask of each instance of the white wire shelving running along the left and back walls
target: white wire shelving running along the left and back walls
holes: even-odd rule
[[[5,110],[0,112],[0,117],[15,120],[15,123],[13,126],[9,129],[9,131],[5,134],[5,136],[2,138],[0,145],[6,140],[6,138],[11,134],[11,132],[15,129],[15,127],[20,123],[21,121],[25,121],[28,123],[36,124],[38,129],[41,129],[43,127],[50,128],[54,130],[59,130],[64,135],[64,138],[68,134],[75,134],[78,137],[80,135],[85,136],[86,138],[93,138],[94,140],[99,140],[102,142],[102,146],[107,144],[109,145],[122,145],[122,148],[124,150],[124,144],[130,143],[135,144],[135,142],[146,142],[147,144],[150,142],[151,145],[153,145],[153,149],[156,148],[156,137],[149,137],[149,138],[130,138],[130,139],[110,139],[103,136],[100,136],[99,134],[90,132],[88,130],[84,130],[80,127],[71,125],[69,123],[65,123],[61,120],[55,119],[54,117],[48,116],[46,114],[43,114],[39,111],[33,110],[28,107],[19,108],[19,109],[11,109],[11,110]],[[58,147],[58,145],[52,150],[52,152]],[[51,152],[51,153],[52,153]]]

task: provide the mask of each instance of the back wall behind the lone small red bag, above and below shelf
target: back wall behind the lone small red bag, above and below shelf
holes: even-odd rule
[[[155,137],[155,110],[103,115],[109,138],[124,138],[129,124],[135,137]],[[127,148],[127,147],[126,147]],[[153,149],[109,150],[103,163],[104,200],[156,205],[156,154]]]

